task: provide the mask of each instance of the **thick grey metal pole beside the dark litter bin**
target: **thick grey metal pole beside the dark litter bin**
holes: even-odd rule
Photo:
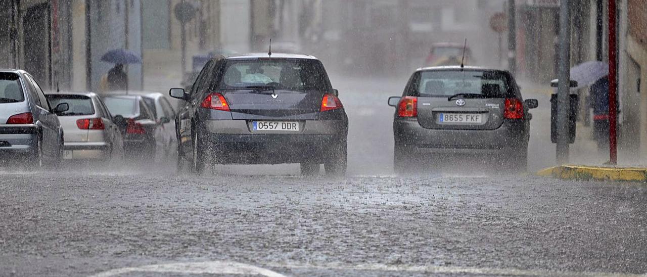
[[[571,6],[562,0],[560,6],[559,65],[557,90],[557,163],[569,162],[569,128],[571,113]]]

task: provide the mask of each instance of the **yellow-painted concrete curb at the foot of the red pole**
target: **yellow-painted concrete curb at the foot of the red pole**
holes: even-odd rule
[[[613,168],[601,166],[554,166],[537,175],[580,181],[627,181],[647,183],[647,168]]]

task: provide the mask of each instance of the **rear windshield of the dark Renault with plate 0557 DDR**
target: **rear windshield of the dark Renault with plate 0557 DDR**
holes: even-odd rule
[[[272,87],[292,91],[328,90],[327,75],[317,60],[230,60],[219,89]]]

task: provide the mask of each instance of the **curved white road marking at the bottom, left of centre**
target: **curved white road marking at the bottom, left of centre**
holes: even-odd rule
[[[195,263],[166,263],[159,265],[144,265],[142,267],[123,267],[110,271],[94,274],[91,277],[110,277],[129,272],[171,272],[184,274],[236,274],[236,275],[260,275],[267,277],[285,277],[268,269],[236,263],[232,261],[203,261]]]

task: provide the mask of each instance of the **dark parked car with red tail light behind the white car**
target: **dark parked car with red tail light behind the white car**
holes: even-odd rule
[[[120,124],[127,157],[154,159],[157,153],[155,134],[160,124],[144,98],[138,95],[110,95],[103,97],[105,106]]]

